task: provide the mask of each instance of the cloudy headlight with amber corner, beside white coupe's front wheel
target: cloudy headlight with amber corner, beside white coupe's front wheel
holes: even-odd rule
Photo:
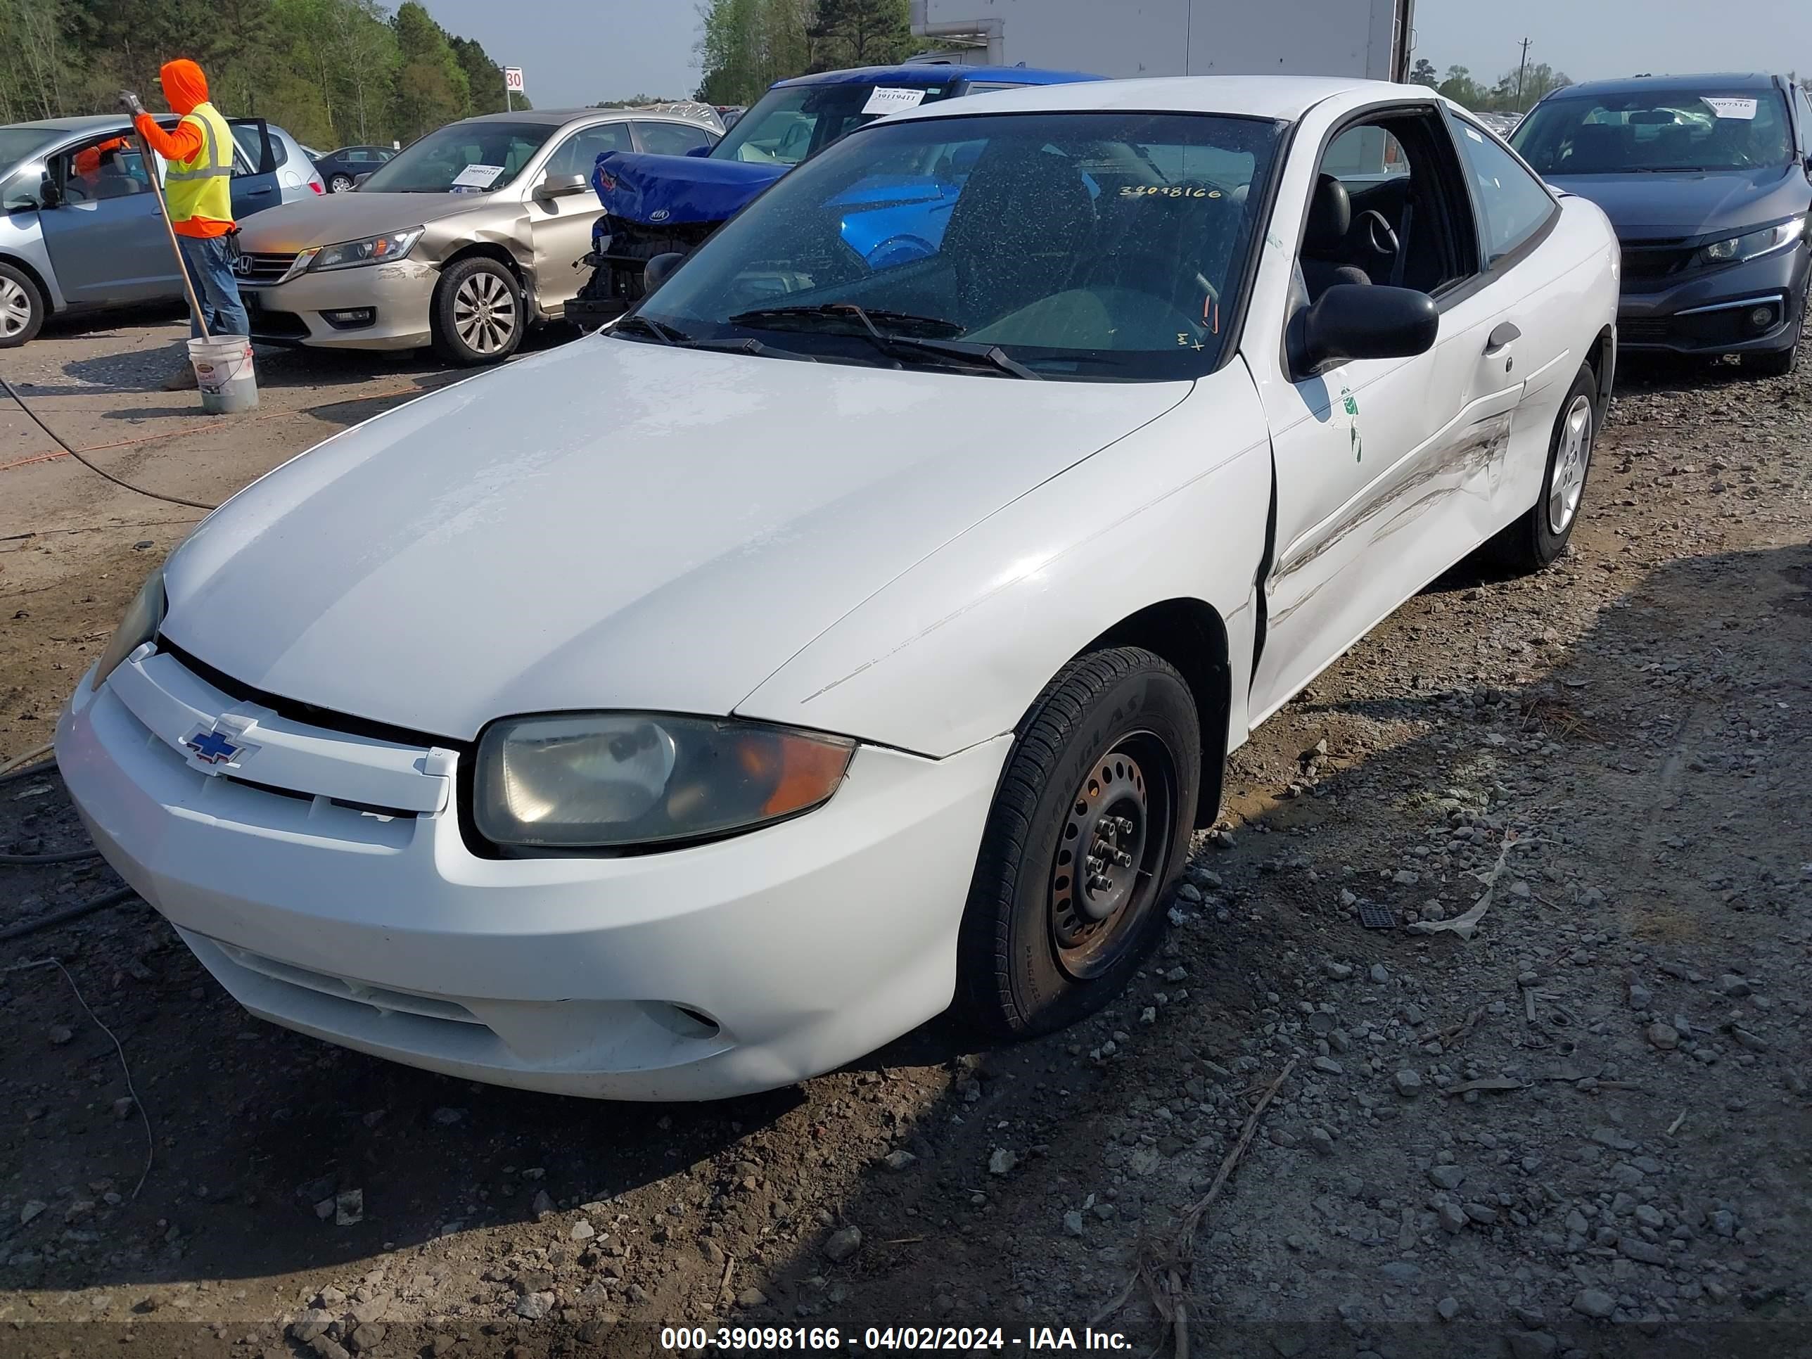
[[[473,821],[493,844],[625,848],[750,830],[843,781],[853,741],[763,723],[587,712],[478,741]]]

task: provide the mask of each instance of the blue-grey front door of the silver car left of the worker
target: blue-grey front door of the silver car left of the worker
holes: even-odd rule
[[[105,174],[74,174],[80,150],[123,130],[78,141],[47,163],[51,205],[40,208],[38,226],[71,306],[145,303],[183,292],[140,152],[116,152]]]

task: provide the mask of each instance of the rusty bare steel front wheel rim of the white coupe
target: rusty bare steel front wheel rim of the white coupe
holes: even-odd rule
[[[1176,765],[1152,732],[1122,736],[1071,794],[1046,917],[1056,964],[1100,977],[1138,937],[1171,855]]]

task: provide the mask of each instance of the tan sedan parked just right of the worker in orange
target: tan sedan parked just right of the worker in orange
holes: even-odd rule
[[[352,194],[286,203],[239,232],[252,337],[337,350],[433,344],[507,359],[585,281],[607,150],[683,156],[721,129],[683,112],[486,114],[429,132]]]

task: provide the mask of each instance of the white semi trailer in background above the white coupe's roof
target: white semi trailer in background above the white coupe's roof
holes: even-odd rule
[[[911,0],[939,60],[1098,76],[1406,80],[1415,0]]]

